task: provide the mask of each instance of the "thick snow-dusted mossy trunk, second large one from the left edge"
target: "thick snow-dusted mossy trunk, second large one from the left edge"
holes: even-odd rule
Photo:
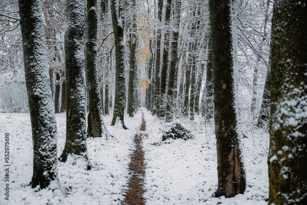
[[[82,157],[90,169],[86,143],[86,93],[83,70],[84,1],[66,0],[65,73],[66,73],[66,142],[59,160],[68,155]]]

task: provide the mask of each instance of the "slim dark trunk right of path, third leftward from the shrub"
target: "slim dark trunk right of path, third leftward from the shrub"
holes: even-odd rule
[[[162,8],[163,8],[163,0],[158,0],[158,21],[162,21]],[[161,94],[160,90],[160,55],[161,55],[161,28],[158,28],[157,30],[157,49],[156,49],[156,66],[155,66],[155,95],[153,97],[153,102],[154,102],[154,109],[157,113],[157,116],[159,116],[159,111],[160,111],[160,101],[159,101],[159,96]],[[153,114],[154,112],[153,111]]]

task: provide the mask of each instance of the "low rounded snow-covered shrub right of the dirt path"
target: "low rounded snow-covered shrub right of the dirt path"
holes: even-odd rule
[[[180,120],[174,120],[173,122],[165,123],[164,125],[162,141],[178,138],[188,140],[194,137],[194,133],[187,128],[185,124],[182,124]]]

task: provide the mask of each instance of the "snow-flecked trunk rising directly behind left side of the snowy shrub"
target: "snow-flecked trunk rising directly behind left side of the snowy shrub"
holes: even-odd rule
[[[171,109],[173,108],[173,92],[174,92],[173,90],[175,89],[174,88],[175,76],[177,77],[176,64],[177,64],[177,55],[178,55],[177,53],[178,53],[180,12],[181,12],[181,0],[176,0],[175,16],[173,24],[173,39],[171,44],[171,58],[169,65],[169,82],[168,82],[167,102],[166,102],[166,122],[171,122],[173,120],[173,113],[171,112]]]

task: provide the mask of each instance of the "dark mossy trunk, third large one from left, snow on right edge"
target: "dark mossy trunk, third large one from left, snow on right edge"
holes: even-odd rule
[[[105,137],[110,134],[103,121],[103,106],[99,92],[97,67],[97,0],[87,0],[87,38],[85,42],[86,72],[88,81],[88,104],[93,137]]]

